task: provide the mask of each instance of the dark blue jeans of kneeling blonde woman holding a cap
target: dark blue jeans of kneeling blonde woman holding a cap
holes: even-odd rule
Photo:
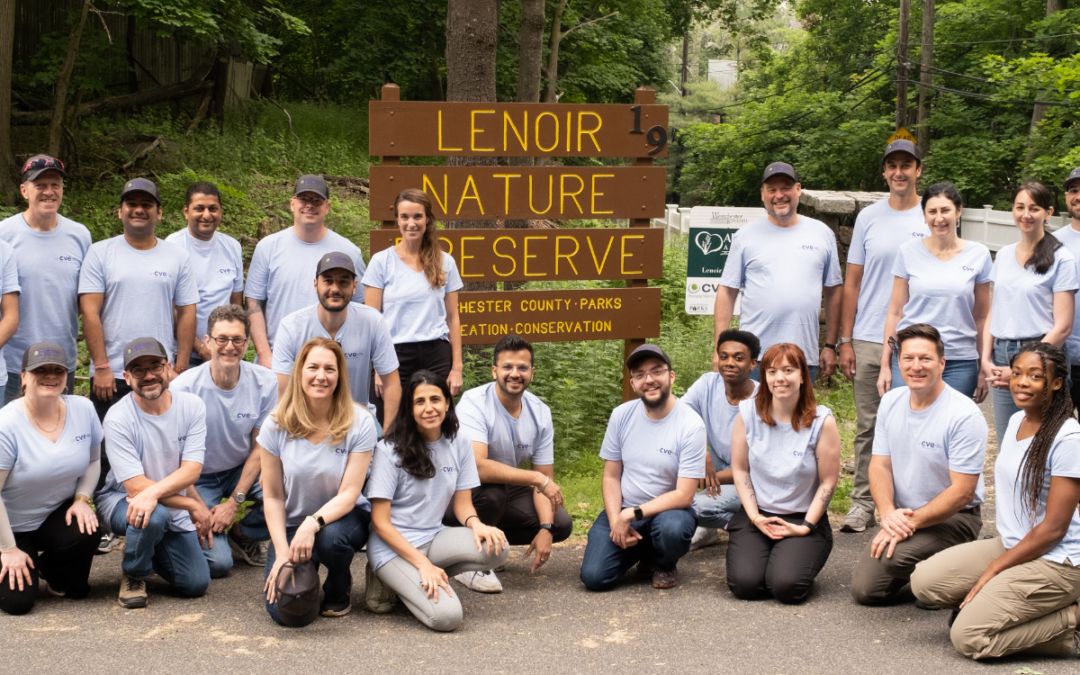
[[[318,568],[320,565],[326,566],[326,581],[323,583],[324,599],[337,600],[347,597],[352,591],[352,572],[349,567],[352,565],[352,556],[364,548],[367,543],[367,532],[372,527],[372,514],[363,509],[356,508],[347,513],[343,517],[334,521],[322,530],[315,532],[315,543],[311,548],[311,562]],[[286,527],[285,537],[292,543],[296,536],[296,527]],[[288,554],[288,551],[285,552]],[[273,562],[276,552],[271,542],[267,550],[267,567],[262,575],[266,581],[273,569]],[[262,595],[266,599],[266,594]],[[278,603],[267,603],[267,613],[281,624],[278,617]]]

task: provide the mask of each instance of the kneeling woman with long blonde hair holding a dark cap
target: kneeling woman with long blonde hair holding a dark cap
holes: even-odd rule
[[[288,387],[259,432],[267,551],[267,611],[282,625],[307,625],[314,616],[279,603],[278,576],[286,563],[326,566],[319,613],[352,609],[353,554],[367,542],[370,504],[361,495],[375,447],[375,419],[352,401],[345,353],[329,338],[301,349]],[[299,605],[299,604],[298,604]]]

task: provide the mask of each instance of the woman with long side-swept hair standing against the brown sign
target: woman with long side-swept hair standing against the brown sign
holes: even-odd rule
[[[401,241],[372,256],[364,273],[364,303],[382,312],[397,352],[402,386],[414,373],[431,370],[461,391],[461,320],[457,262],[438,246],[431,200],[422,190],[403,190],[394,201]],[[381,380],[374,378],[382,418]],[[382,420],[383,423],[387,420]]]

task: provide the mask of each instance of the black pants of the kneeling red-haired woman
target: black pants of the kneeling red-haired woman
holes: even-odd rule
[[[805,513],[779,515],[788,523],[802,524]],[[826,513],[818,529],[806,537],[773,540],[750,522],[745,509],[739,509],[728,525],[728,588],[744,600],[770,594],[785,605],[796,605],[810,595],[813,580],[833,551],[833,528]]]

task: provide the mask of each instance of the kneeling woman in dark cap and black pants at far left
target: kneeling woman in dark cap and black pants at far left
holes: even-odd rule
[[[52,342],[23,354],[23,394],[0,410],[0,609],[50,595],[90,594],[102,540],[90,508],[100,473],[102,423],[89,399],[65,396],[67,356]]]

